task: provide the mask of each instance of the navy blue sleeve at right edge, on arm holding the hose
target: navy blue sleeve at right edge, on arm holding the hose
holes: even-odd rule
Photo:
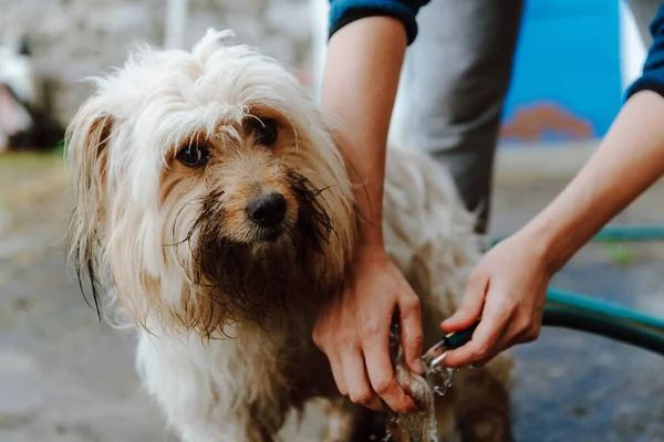
[[[653,91],[664,96],[664,6],[660,7],[650,30],[653,44],[647,52],[641,78],[627,90],[627,98],[639,91]]]

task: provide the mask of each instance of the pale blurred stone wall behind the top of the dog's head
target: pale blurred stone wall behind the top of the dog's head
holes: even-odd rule
[[[135,42],[164,41],[166,0],[0,0],[0,41],[25,34],[48,106],[66,123],[90,88],[81,80],[121,64]],[[190,0],[184,45],[209,27],[230,28],[241,41],[297,69],[311,66],[309,0]]]

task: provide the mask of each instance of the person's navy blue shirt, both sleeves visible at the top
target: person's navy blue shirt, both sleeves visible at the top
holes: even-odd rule
[[[411,44],[417,36],[417,12],[428,2],[429,0],[330,0],[330,36],[355,20],[387,15],[404,24]],[[643,75],[630,86],[627,98],[644,90],[664,96],[664,6],[660,7],[650,29],[653,44],[643,66]]]

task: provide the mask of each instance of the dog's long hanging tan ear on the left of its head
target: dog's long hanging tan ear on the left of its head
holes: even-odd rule
[[[87,273],[97,314],[100,270],[97,259],[103,251],[106,223],[108,145],[115,119],[100,110],[95,99],[86,102],[74,116],[65,134],[66,159],[73,175],[75,208],[70,222],[69,254],[73,260],[83,291]]]

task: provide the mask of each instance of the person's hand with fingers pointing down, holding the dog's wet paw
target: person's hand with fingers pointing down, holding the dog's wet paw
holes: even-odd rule
[[[419,298],[383,248],[355,252],[343,293],[319,313],[315,345],[328,356],[339,391],[374,410],[381,398],[395,412],[416,409],[396,383],[388,352],[395,311],[402,325],[402,345],[408,367],[422,373]],[[377,394],[376,394],[377,393]]]

